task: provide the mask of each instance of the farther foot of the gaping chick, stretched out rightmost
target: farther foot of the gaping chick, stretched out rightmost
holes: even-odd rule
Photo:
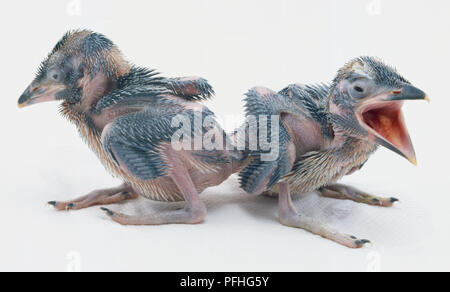
[[[398,199],[396,198],[382,198],[373,196],[354,187],[341,184],[334,184],[323,187],[319,189],[319,192],[322,196],[327,198],[352,200],[358,203],[380,207],[392,207],[395,202],[398,202]]]

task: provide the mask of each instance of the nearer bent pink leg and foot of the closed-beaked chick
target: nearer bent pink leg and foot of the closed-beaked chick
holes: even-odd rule
[[[206,206],[200,200],[199,193],[192,182],[192,179],[186,167],[179,158],[168,153],[168,159],[171,160],[172,171],[171,178],[180,189],[186,200],[187,206],[181,210],[168,212],[159,212],[143,216],[128,216],[116,213],[107,208],[102,208],[112,220],[122,225],[163,225],[163,224],[198,224],[203,222],[206,217]]]

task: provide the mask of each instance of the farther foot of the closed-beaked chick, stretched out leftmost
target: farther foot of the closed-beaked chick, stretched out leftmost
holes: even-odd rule
[[[116,188],[96,190],[86,196],[66,202],[48,202],[58,211],[80,210],[97,205],[116,204],[126,200],[137,199],[139,195],[128,184]]]

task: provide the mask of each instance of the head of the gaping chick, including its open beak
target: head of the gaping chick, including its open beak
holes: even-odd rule
[[[331,122],[344,134],[384,146],[417,164],[405,125],[405,100],[428,100],[397,71],[372,57],[352,60],[336,76],[330,95]]]

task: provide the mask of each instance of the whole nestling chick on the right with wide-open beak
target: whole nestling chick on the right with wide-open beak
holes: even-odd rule
[[[349,62],[330,85],[295,84],[278,93],[267,88],[250,90],[248,116],[280,117],[279,155],[264,161],[262,151],[251,151],[252,161],[240,173],[242,188],[254,195],[278,195],[284,225],[351,248],[362,247],[369,241],[298,214],[291,193],[318,191],[326,197],[392,206],[397,199],[372,196],[336,182],[361,169],[379,145],[416,164],[402,115],[405,100],[428,98],[395,69],[372,57]]]

